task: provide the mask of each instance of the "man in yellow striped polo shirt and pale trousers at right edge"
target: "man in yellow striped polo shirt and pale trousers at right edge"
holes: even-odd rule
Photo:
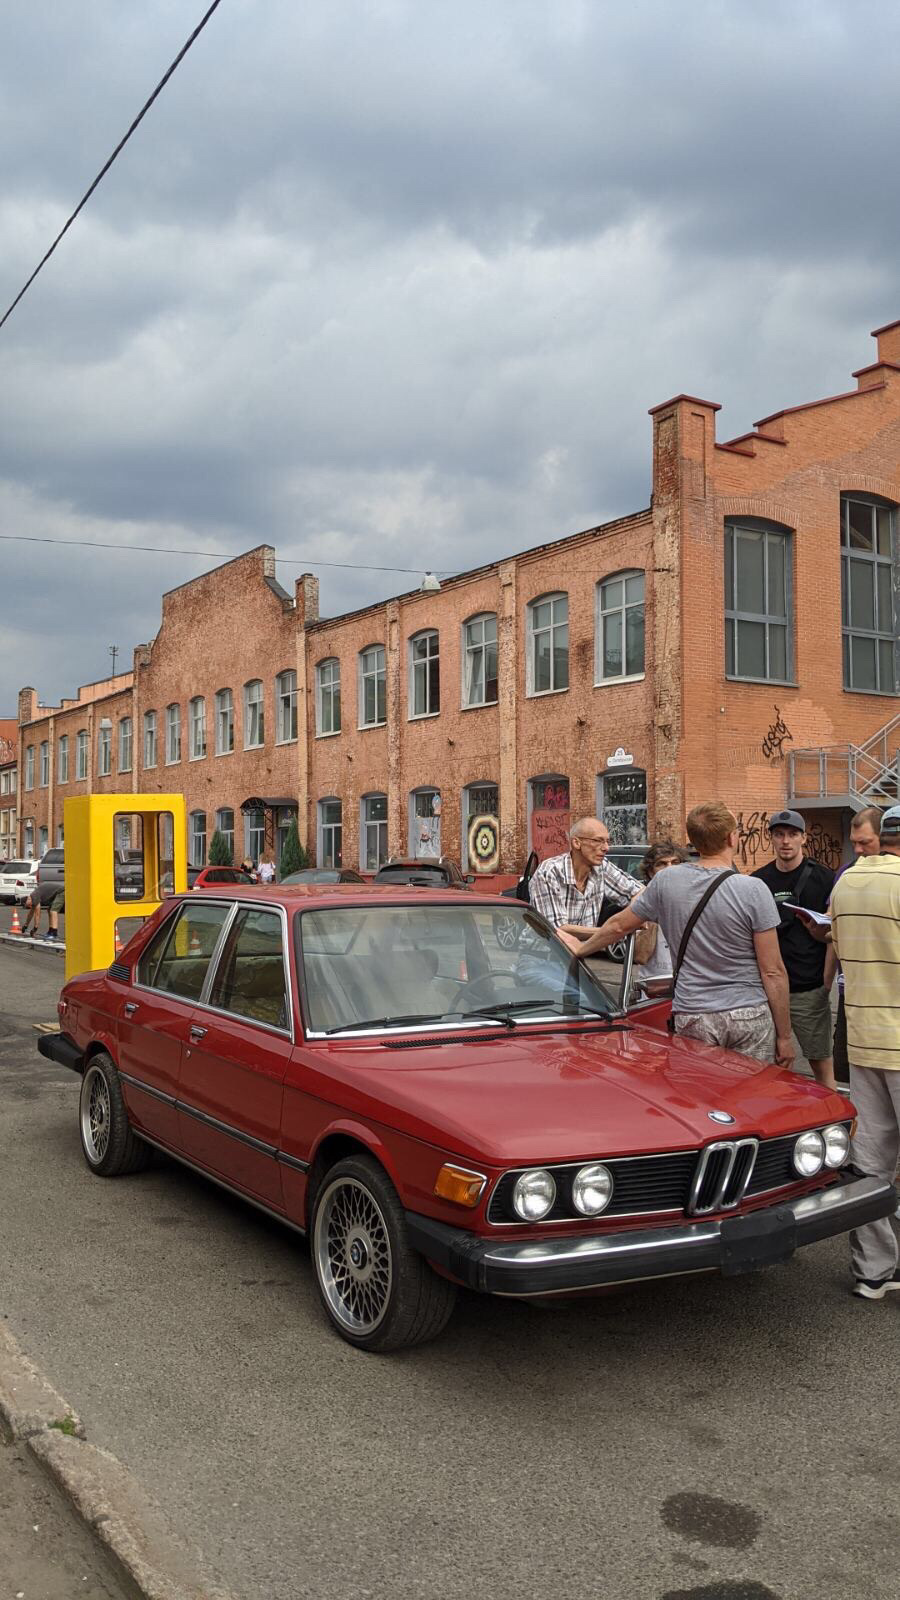
[[[881,819],[881,856],[863,856],[831,891],[831,934],[844,968],[850,1099],[858,1125],[852,1160],[892,1181],[900,1157],[900,806]],[[850,1234],[854,1294],[900,1290],[892,1219]]]

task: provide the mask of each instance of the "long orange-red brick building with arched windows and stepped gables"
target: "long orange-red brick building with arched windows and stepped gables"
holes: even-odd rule
[[[133,672],[59,707],[19,696],[21,838],[54,843],[67,794],[183,790],[194,861],[391,854],[514,870],[599,810],[613,838],[684,835],[719,795],[741,862],[799,805],[839,859],[862,805],[897,797],[900,323],[857,387],[716,438],[713,402],[650,413],[652,504],[469,573],[320,618],[259,546],[163,595]],[[498,851],[471,859],[469,824]],[[482,830],[490,845],[492,829]]]

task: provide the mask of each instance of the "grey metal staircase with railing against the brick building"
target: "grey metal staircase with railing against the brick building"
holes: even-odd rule
[[[788,754],[788,803],[818,802],[862,811],[900,803],[900,714],[863,744]]]

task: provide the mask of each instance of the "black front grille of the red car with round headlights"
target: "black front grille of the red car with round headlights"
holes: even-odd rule
[[[778,1139],[717,1139],[701,1150],[671,1155],[631,1155],[604,1162],[613,1181],[612,1200],[597,1221],[613,1216],[652,1216],[681,1211],[708,1216],[735,1210],[741,1200],[801,1184],[793,1165],[798,1134]],[[594,1157],[602,1160],[602,1157]],[[572,1203],[572,1181],[586,1162],[548,1166],[556,1179],[556,1200],[544,1222],[585,1221]],[[509,1226],[522,1219],[512,1210],[516,1179],[533,1168],[519,1166],[503,1174],[490,1195],[487,1221]],[[826,1174],[830,1176],[830,1174]]]

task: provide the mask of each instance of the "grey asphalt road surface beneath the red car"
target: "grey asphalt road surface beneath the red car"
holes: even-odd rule
[[[0,947],[0,1312],[239,1600],[894,1600],[900,1296],[846,1242],[359,1355],[290,1234],[88,1173],[58,982]]]

